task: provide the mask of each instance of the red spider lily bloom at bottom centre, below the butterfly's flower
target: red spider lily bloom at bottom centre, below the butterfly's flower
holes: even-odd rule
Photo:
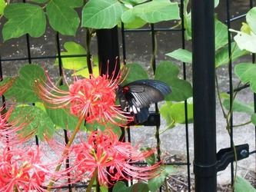
[[[150,179],[159,174],[159,165],[137,167],[132,165],[144,161],[154,151],[141,152],[131,143],[118,141],[118,136],[110,129],[94,131],[88,136],[87,142],[73,147],[75,162],[71,167],[76,180],[92,177],[97,171],[100,185],[109,186],[113,180]],[[109,178],[111,180],[109,180]]]

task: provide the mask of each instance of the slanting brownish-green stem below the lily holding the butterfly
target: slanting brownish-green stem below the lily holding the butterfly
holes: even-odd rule
[[[62,153],[62,158],[65,157],[66,154],[68,154],[68,147],[71,146],[72,142],[75,139],[75,135],[78,133],[81,123],[84,121],[84,118],[79,118],[78,120],[78,124],[76,124],[75,126],[75,130],[73,131],[73,133],[71,134],[71,137],[69,138],[68,144],[66,145],[66,149],[65,151],[63,151]],[[62,167],[62,164],[58,164],[58,166],[55,168],[55,172],[58,171],[60,168]],[[50,183],[48,184],[47,190],[50,191],[52,189],[52,185],[55,182],[55,177],[51,178]]]

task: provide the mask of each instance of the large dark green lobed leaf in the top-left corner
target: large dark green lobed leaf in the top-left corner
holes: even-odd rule
[[[8,18],[2,29],[4,41],[19,38],[26,33],[38,38],[45,32],[45,13],[38,5],[12,3],[5,7],[4,15]]]

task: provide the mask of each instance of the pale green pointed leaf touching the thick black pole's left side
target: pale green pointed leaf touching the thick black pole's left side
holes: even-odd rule
[[[178,61],[185,62],[185,63],[192,63],[192,53],[186,49],[178,48],[175,51],[172,51],[168,54],[171,58],[175,58]]]

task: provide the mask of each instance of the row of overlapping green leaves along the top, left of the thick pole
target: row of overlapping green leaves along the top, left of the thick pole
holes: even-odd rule
[[[2,30],[4,41],[21,37],[26,33],[33,38],[42,36],[46,28],[46,18],[55,31],[62,35],[73,36],[80,22],[82,27],[87,28],[113,28],[120,22],[139,28],[147,22],[180,19],[178,3],[168,0],[155,0],[142,4],[141,1],[132,0],[88,1],[82,8],[81,21],[75,8],[81,8],[82,0],[33,0],[32,2],[35,3],[11,3],[6,7],[4,2],[0,4],[0,11],[1,8],[2,10],[5,8],[3,15],[8,19]]]

